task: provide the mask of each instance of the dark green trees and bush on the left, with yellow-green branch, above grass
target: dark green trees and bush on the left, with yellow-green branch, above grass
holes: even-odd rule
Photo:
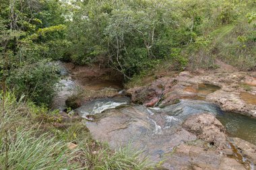
[[[1,1],[0,80],[36,104],[51,103],[57,82],[46,58],[62,58],[69,46],[63,13],[55,0]]]

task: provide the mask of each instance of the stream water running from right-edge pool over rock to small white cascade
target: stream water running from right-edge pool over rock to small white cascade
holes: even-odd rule
[[[100,114],[105,110],[127,104],[129,104],[129,98],[127,97],[96,99],[77,109],[77,112],[85,118],[88,115]],[[136,106],[131,105],[131,107]],[[140,111],[146,112],[148,117],[155,121],[156,128],[160,126],[162,129],[181,126],[193,114],[210,112],[226,127],[229,136],[242,138],[256,144],[256,119],[241,114],[222,112],[217,105],[206,101],[181,100],[181,103],[165,108],[142,107]]]

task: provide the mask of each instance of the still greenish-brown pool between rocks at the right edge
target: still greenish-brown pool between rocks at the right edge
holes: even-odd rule
[[[229,112],[218,114],[217,118],[226,127],[229,136],[256,144],[256,119]]]

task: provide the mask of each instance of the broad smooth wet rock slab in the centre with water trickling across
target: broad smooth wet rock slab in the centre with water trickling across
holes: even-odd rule
[[[175,146],[196,140],[196,135],[182,127],[192,115],[205,112],[218,114],[216,105],[205,101],[184,100],[166,108],[128,105],[96,114],[96,121],[86,122],[93,138],[108,142],[111,148],[131,144],[158,162]]]

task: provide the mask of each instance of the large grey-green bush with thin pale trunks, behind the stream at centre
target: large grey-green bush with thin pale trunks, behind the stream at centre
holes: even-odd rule
[[[90,64],[103,56],[125,78],[151,69],[181,44],[176,38],[181,26],[174,16],[168,1],[88,2],[75,13],[67,32],[74,44],[71,60]]]

